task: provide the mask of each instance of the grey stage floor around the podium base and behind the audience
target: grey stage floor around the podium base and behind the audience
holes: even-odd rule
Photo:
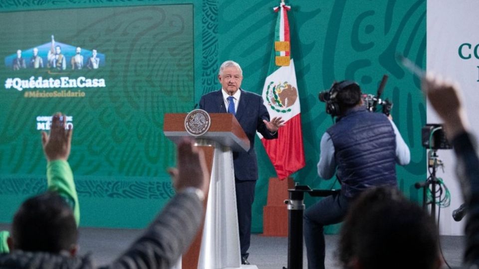
[[[0,230],[9,230],[8,224],[0,224]],[[141,233],[141,230],[80,228],[80,255],[91,253],[96,265],[104,265],[115,259]],[[335,258],[338,236],[326,235],[326,268],[340,269]],[[414,244],[414,242],[411,242]],[[441,236],[446,261],[452,268],[461,266],[465,237]],[[248,261],[258,269],[281,269],[287,266],[288,240],[282,237],[251,236]],[[307,268],[304,249],[304,269]]]

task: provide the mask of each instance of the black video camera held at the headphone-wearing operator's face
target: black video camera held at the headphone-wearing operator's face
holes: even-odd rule
[[[381,83],[379,84],[378,91],[376,96],[372,94],[363,94],[361,99],[363,100],[363,104],[365,108],[370,112],[377,112],[377,106],[382,106],[382,113],[389,116],[391,114],[391,109],[393,108],[393,103],[390,102],[388,99],[381,99],[381,94],[384,91],[384,87],[386,86],[386,82],[388,80],[388,75],[384,75]],[[356,84],[353,81],[344,81],[335,87],[331,87],[331,89],[327,91],[322,91],[319,93],[318,98],[319,101],[326,103],[326,113],[331,114],[331,116],[337,116],[339,112],[339,105],[336,100],[337,92],[343,88],[346,88],[352,84]],[[334,85],[334,84],[333,84]],[[359,87],[359,86],[358,86]]]

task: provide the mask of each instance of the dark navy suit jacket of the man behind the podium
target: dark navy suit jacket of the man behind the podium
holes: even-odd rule
[[[222,90],[208,93],[201,97],[200,108],[208,113],[227,113]],[[257,180],[258,164],[256,152],[254,151],[254,136],[256,131],[266,139],[278,137],[278,133],[270,134],[266,129],[263,120],[269,121],[269,113],[263,104],[263,98],[255,93],[246,92],[242,89],[240,103],[236,112],[236,119],[241,125],[244,133],[248,136],[250,148],[248,152],[234,151],[233,162],[235,166],[235,177],[237,180]]]

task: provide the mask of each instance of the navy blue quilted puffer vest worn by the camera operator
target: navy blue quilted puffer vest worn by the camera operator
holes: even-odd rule
[[[346,197],[372,186],[397,186],[396,135],[384,114],[353,108],[326,132],[334,144],[336,177]]]

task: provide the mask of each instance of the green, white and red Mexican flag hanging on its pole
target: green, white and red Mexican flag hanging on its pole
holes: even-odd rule
[[[263,100],[270,118],[282,117],[285,126],[279,128],[277,139],[264,139],[258,133],[279,179],[284,179],[305,165],[301,109],[294,61],[290,55],[289,5],[273,8],[278,12],[268,76],[264,80]]]

